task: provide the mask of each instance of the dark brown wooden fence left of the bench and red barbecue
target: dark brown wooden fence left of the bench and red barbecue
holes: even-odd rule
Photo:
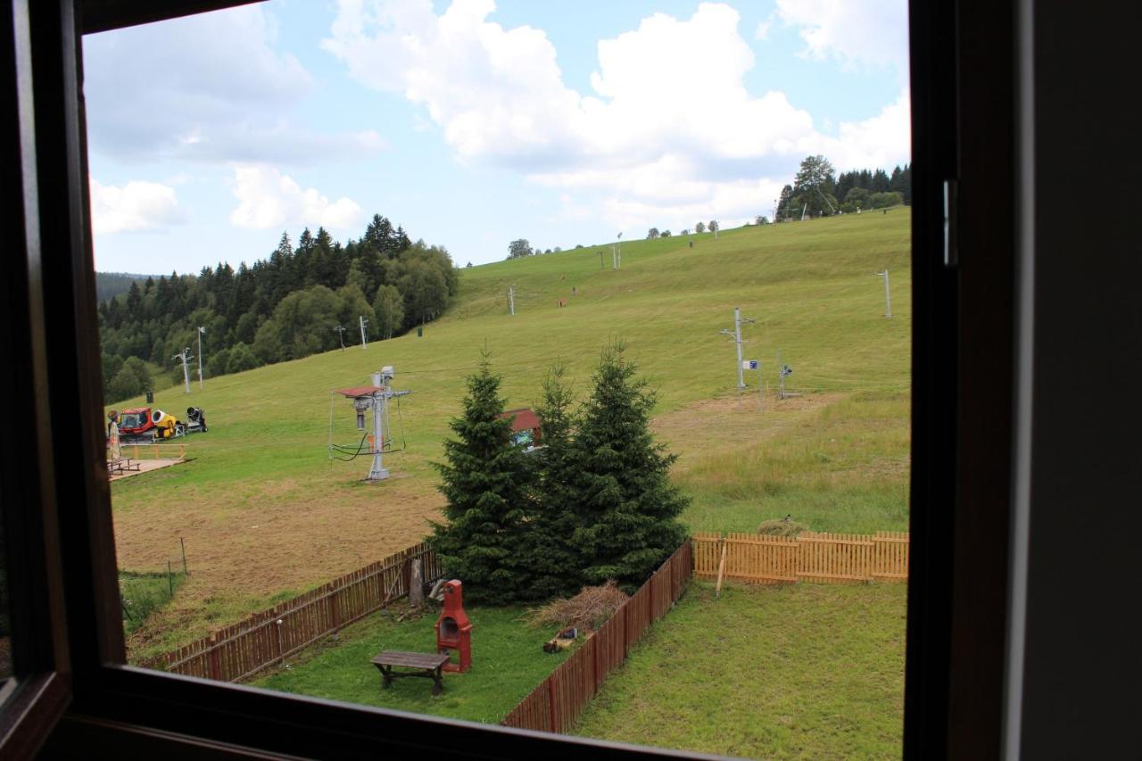
[[[435,553],[427,544],[417,544],[143,666],[231,682],[247,679],[405,596],[412,563],[417,561],[423,563],[425,582],[442,576]]]

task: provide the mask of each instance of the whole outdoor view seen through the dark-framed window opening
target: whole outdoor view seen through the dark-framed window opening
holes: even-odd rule
[[[128,660],[900,755],[907,21],[274,0],[86,37]]]

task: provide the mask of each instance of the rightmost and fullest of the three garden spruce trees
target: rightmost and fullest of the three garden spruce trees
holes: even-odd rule
[[[676,519],[687,499],[669,482],[675,455],[650,432],[654,393],[624,349],[603,350],[574,438],[579,526],[571,544],[586,582],[613,578],[634,591],[685,539]]]

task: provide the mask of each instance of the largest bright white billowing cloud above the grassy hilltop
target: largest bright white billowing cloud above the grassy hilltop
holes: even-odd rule
[[[453,0],[437,16],[428,0],[340,0],[322,46],[362,83],[423,105],[460,160],[590,190],[619,225],[767,214],[810,153],[838,168],[908,160],[907,96],[835,137],[783,93],[750,94],[754,54],[726,5],[654,14],[600,41],[589,94],[564,83],[541,30],[504,29],[488,19],[494,8]],[[582,205],[564,201],[564,213],[579,217]]]

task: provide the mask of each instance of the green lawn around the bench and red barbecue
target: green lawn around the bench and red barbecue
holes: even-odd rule
[[[309,648],[289,668],[254,682],[287,692],[397,708],[452,719],[499,723],[528,692],[547,678],[571,650],[542,651],[552,632],[518,620],[523,608],[465,608],[472,619],[472,668],[444,674],[444,692],[432,697],[427,679],[397,679],[381,689],[370,659],[381,650],[432,652],[436,616],[396,622],[400,608],[369,616]]]

